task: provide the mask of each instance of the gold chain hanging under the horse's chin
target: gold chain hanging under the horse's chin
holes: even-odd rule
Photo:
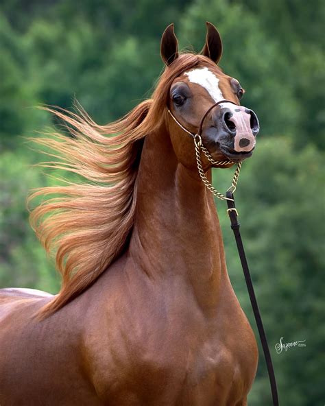
[[[213,195],[215,195],[215,197],[218,198],[218,199],[232,200],[232,199],[226,198],[226,196],[224,194],[217,191],[217,189],[215,189],[213,187],[213,185],[210,184],[210,182],[208,181],[208,178],[206,178],[206,174],[204,173],[204,170],[203,170],[203,167],[202,167],[200,150],[202,150],[204,152],[206,158],[208,158],[210,163],[213,163],[214,165],[228,165],[228,164],[232,163],[232,161],[231,160],[221,160],[221,161],[214,160],[213,157],[208,152],[208,150],[206,150],[206,148],[202,145],[201,136],[198,135],[198,134],[196,134],[194,136],[194,144],[195,144],[195,156],[196,156],[197,170],[199,171],[200,178],[202,179],[202,182],[206,185],[206,189],[208,189],[211,193],[213,193]],[[237,164],[237,169],[234,172],[234,177],[232,178],[231,186],[228,189],[228,190],[231,190],[232,193],[236,190],[236,185],[237,185],[237,181],[238,181],[238,178],[239,178],[239,172],[240,171],[241,171],[241,162],[239,162]]]

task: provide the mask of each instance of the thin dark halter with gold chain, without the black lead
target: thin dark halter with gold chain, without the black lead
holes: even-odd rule
[[[182,124],[180,123],[180,121],[178,121],[178,119],[176,119],[176,117],[173,115],[171,110],[169,110],[169,108],[167,108],[167,111],[169,112],[169,115],[171,115],[173,120],[178,124],[178,126],[180,126],[180,128],[182,128],[182,130],[184,130],[184,132],[186,132],[187,134],[189,134],[193,137],[193,141],[194,141],[194,145],[195,145],[195,158],[196,158],[196,164],[197,164],[197,171],[199,172],[202,182],[204,182],[204,184],[206,185],[206,189],[208,189],[211,193],[213,193],[213,195],[215,195],[216,198],[218,198],[220,200],[233,200],[231,198],[226,197],[224,194],[220,193],[219,191],[217,191],[217,189],[215,189],[213,187],[213,185],[208,181],[208,178],[206,178],[206,174],[204,173],[204,170],[202,167],[202,160],[201,160],[201,156],[200,156],[200,150],[202,150],[202,152],[204,153],[206,158],[208,158],[210,163],[212,163],[213,165],[229,165],[229,164],[233,163],[232,160],[214,160],[213,157],[211,156],[210,152],[208,152],[208,150],[206,149],[206,147],[204,147],[204,145],[202,143],[202,128],[203,128],[204,120],[206,119],[206,116],[208,115],[208,113],[211,110],[213,110],[213,108],[215,108],[216,106],[218,106],[221,103],[232,103],[235,106],[237,106],[236,103],[234,103],[233,101],[230,101],[230,100],[225,99],[225,100],[217,101],[217,103],[210,106],[210,108],[208,108],[208,110],[206,110],[206,112],[204,113],[204,116],[202,117],[202,119],[200,121],[200,125],[199,125],[199,128],[198,128],[196,134],[193,134],[193,132],[186,130],[186,128],[184,126],[182,126]],[[234,193],[234,191],[236,190],[237,180],[239,178],[239,172],[241,171],[241,164],[242,164],[241,162],[237,163],[237,169],[234,172],[231,186],[227,191],[231,191],[232,193]]]

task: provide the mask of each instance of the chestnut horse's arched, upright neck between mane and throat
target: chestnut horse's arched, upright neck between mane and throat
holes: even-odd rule
[[[213,195],[178,163],[166,130],[146,137],[136,189],[129,246],[136,268],[155,283],[181,278],[210,306],[226,274],[219,219]]]

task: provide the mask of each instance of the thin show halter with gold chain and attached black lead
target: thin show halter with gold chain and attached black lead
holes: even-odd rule
[[[208,178],[206,178],[206,174],[204,173],[204,169],[202,167],[202,160],[201,160],[201,156],[200,156],[200,150],[202,150],[202,152],[204,152],[204,155],[206,156],[206,158],[208,158],[210,163],[213,163],[213,165],[222,166],[222,165],[230,165],[230,164],[233,163],[231,160],[221,160],[221,161],[214,160],[213,157],[208,152],[208,150],[206,150],[206,147],[204,147],[204,145],[202,143],[202,128],[203,128],[204,119],[206,119],[206,116],[208,115],[208,113],[211,110],[213,110],[213,108],[215,108],[216,106],[218,106],[221,103],[236,104],[233,101],[225,99],[225,100],[219,100],[219,101],[217,101],[217,103],[210,106],[210,108],[208,108],[208,110],[206,110],[206,112],[204,113],[204,116],[202,117],[202,119],[200,121],[200,125],[199,125],[199,128],[198,128],[196,134],[193,134],[193,132],[190,132],[189,130],[186,130],[186,128],[184,128],[184,126],[182,126],[182,124],[178,121],[178,119],[176,119],[176,117],[173,115],[171,110],[169,110],[169,108],[167,108],[167,111],[169,112],[169,115],[171,115],[173,120],[178,124],[178,126],[180,126],[180,128],[182,128],[182,130],[184,130],[184,132],[187,132],[187,134],[189,134],[189,135],[191,135],[193,137],[194,145],[195,145],[195,157],[196,157],[196,163],[197,163],[197,170],[199,171],[200,178],[202,179],[202,181],[206,185],[206,188],[211,193],[213,193],[213,195],[215,195],[217,198],[219,198],[220,200],[227,200],[227,205],[228,205],[227,213],[228,213],[228,216],[230,217],[230,223],[231,223],[232,231],[234,232],[234,238],[236,240],[237,250],[238,250],[238,253],[239,253],[239,258],[241,259],[241,266],[243,267],[243,274],[245,276],[245,283],[246,283],[246,286],[247,286],[247,289],[248,289],[248,294],[250,296],[250,303],[252,305],[254,318],[255,318],[255,321],[256,321],[257,329],[258,329],[258,334],[259,334],[260,339],[261,339],[261,344],[262,344],[262,347],[263,347],[263,353],[264,353],[265,361],[266,361],[266,364],[267,364],[267,372],[269,374],[269,384],[271,386],[273,405],[278,406],[279,405],[279,402],[278,402],[278,390],[276,388],[276,377],[275,377],[275,374],[274,374],[272,358],[271,358],[271,354],[269,353],[269,346],[267,344],[267,337],[266,337],[266,334],[265,334],[261,314],[260,314],[260,311],[258,309],[258,303],[257,303],[255,292],[254,292],[252,278],[250,276],[250,270],[249,270],[249,267],[248,267],[248,262],[247,262],[247,259],[246,259],[245,250],[244,250],[244,247],[243,247],[243,241],[241,239],[241,233],[239,231],[240,224],[239,224],[238,218],[237,218],[238,217],[238,211],[237,211],[237,208],[236,208],[236,206],[234,204],[234,195],[233,195],[233,193],[236,190],[237,180],[239,178],[239,172],[241,170],[241,162],[237,163],[237,169],[234,172],[234,176],[232,178],[232,184],[231,184],[230,188],[226,191],[226,195],[220,193],[219,191],[217,191],[217,189],[215,189],[213,187],[213,185],[208,181]]]

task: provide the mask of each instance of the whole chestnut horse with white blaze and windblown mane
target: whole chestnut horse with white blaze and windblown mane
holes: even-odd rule
[[[47,108],[71,134],[37,139],[59,158],[45,165],[78,180],[34,191],[31,223],[62,286],[1,289],[1,406],[247,405],[256,339],[189,135],[207,182],[252,156],[257,117],[221,52],[207,23],[202,51],[180,53],[171,24],[152,98],[125,117]]]

